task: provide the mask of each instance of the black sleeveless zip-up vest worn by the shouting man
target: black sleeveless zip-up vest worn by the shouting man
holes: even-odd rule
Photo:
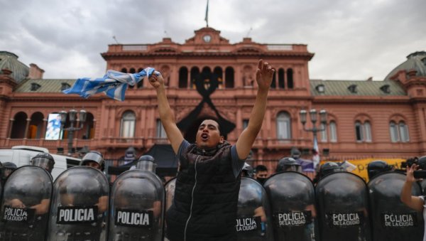
[[[235,177],[231,145],[202,155],[195,144],[180,157],[175,199],[166,213],[172,241],[236,240],[236,206],[241,173]],[[185,231],[186,229],[186,231]]]

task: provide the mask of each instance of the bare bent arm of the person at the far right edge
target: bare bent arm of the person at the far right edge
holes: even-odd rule
[[[405,179],[403,190],[401,191],[401,201],[405,203],[405,205],[408,205],[408,207],[421,212],[423,210],[422,198],[411,196],[411,187],[413,183],[417,181],[413,176],[413,171],[417,170],[417,168],[418,166],[416,164],[407,168],[407,178]]]

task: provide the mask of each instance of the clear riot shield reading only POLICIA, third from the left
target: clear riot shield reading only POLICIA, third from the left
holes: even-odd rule
[[[111,241],[163,240],[165,190],[151,171],[121,173],[111,189]]]

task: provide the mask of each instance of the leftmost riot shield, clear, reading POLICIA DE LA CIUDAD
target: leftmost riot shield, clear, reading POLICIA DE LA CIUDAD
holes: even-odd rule
[[[38,166],[22,166],[7,179],[1,204],[0,240],[45,240],[52,176]]]

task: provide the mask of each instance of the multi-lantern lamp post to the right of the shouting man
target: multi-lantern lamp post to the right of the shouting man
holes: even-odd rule
[[[310,121],[312,122],[312,128],[306,128],[305,124],[306,124],[306,117],[307,117],[307,111],[305,109],[302,109],[299,112],[299,116],[300,116],[300,122],[302,122],[303,125],[303,130],[305,132],[312,132],[314,134],[314,150],[317,151],[317,154],[315,154],[314,156],[316,156],[317,160],[313,160],[314,162],[317,162],[317,164],[320,162],[320,156],[319,155],[319,149],[318,149],[318,139],[317,139],[317,132],[323,132],[326,128],[326,124],[327,124],[327,112],[322,109],[320,110],[320,122],[321,124],[324,124],[324,127],[317,127],[316,123],[317,123],[317,117],[318,117],[318,112],[316,109],[310,109],[309,111],[309,115],[310,115]],[[315,164],[316,165],[316,164]]]

